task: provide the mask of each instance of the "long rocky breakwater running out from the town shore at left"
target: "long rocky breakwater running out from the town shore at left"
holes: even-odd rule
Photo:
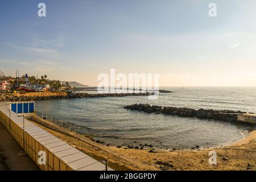
[[[98,94],[89,94],[89,93],[79,93],[71,94],[65,92],[57,93],[34,93],[34,94],[12,94],[6,93],[0,95],[0,101],[13,101],[13,102],[22,102],[22,101],[42,101],[42,100],[55,100],[55,99],[66,99],[66,98],[97,98],[97,97],[125,97],[125,96],[150,96],[152,93],[98,93]]]

